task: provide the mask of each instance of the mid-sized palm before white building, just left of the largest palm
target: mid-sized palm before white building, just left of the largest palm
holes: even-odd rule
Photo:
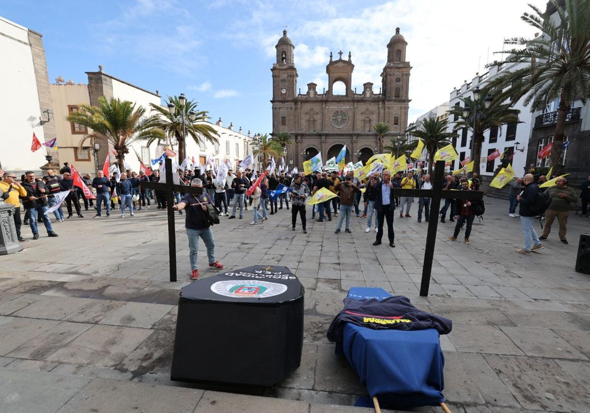
[[[453,115],[458,118],[453,126],[453,132],[466,127],[473,134],[471,137],[471,145],[473,145],[472,160],[475,161],[473,163],[473,172],[477,173],[477,175],[480,175],[481,143],[484,140],[484,132],[492,127],[498,127],[501,130],[501,126],[507,123],[521,123],[518,119],[520,110],[512,109],[513,103],[502,103],[504,99],[502,99],[501,94],[491,96],[491,91],[491,87],[486,86],[481,90],[480,96],[487,95],[489,97],[477,101],[471,99],[471,97],[460,97],[459,100],[463,101],[463,107],[453,106],[453,109],[448,111],[450,116]],[[488,108],[486,108],[487,104],[489,104]],[[469,112],[467,116],[464,116],[466,108],[469,109]]]

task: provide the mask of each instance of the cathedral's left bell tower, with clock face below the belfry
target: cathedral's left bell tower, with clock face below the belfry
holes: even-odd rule
[[[293,100],[297,90],[297,69],[293,63],[295,46],[283,30],[277,45],[277,63],[273,64],[273,100]]]

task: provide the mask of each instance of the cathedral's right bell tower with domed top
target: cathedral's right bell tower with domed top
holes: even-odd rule
[[[394,37],[387,45],[387,64],[381,73],[383,95],[385,100],[408,100],[409,72],[411,67],[405,60],[408,42],[399,34],[399,27],[395,29]]]

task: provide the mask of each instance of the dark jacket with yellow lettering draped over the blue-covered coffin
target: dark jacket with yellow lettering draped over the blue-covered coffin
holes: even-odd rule
[[[383,300],[344,299],[344,308],[332,320],[327,337],[331,342],[342,342],[346,323],[368,327],[373,330],[425,330],[437,329],[440,334],[448,334],[453,322],[444,317],[423,312],[408,297],[393,296]]]

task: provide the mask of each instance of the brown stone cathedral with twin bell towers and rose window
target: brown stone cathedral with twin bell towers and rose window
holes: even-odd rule
[[[297,90],[297,68],[294,63],[294,45],[283,30],[276,45],[277,63],[273,73],[273,133],[289,132],[296,145],[287,150],[286,162],[290,169],[301,169],[304,160],[322,152],[322,159],[336,156],[346,145],[346,162],[366,162],[377,147],[373,125],[389,123],[388,135],[404,133],[408,124],[408,86],[411,67],[406,61],[408,43],[395,29],[387,45],[387,62],[381,73],[381,87],[363,84],[363,90],[352,90],[352,71],[355,65],[348,59],[330,53],[326,65],[327,90],[317,90],[315,83],[307,84],[306,93]],[[389,136],[384,145],[388,145]]]

